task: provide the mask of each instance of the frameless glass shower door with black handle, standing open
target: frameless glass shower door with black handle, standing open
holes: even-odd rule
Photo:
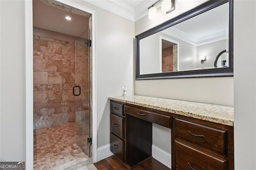
[[[75,41],[76,142],[90,157],[90,30]]]

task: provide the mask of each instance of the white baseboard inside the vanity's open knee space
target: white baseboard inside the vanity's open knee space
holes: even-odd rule
[[[152,144],[152,156],[168,168],[172,168],[171,154]]]

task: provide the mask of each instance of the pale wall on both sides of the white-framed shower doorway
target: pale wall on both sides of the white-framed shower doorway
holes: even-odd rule
[[[83,1],[96,11],[96,83],[98,147],[110,143],[108,96],[133,94],[134,22]],[[1,158],[25,161],[25,9],[24,1],[0,0]],[[8,16],[8,17],[6,17]]]

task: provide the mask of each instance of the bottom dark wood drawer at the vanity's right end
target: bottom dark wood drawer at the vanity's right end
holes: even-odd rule
[[[225,170],[227,161],[175,142],[176,170]]]

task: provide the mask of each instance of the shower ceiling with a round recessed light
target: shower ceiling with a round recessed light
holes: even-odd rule
[[[70,16],[72,20],[66,20]],[[89,28],[89,19],[33,0],[33,26],[79,37]]]

